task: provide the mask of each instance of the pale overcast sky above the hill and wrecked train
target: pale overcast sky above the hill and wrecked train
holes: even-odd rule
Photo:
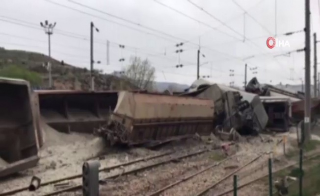
[[[255,75],[261,82],[300,84],[300,78],[304,77],[304,52],[275,57],[304,47],[303,32],[283,35],[304,28],[304,0],[1,0],[0,3],[1,47],[48,54],[48,37],[39,23],[49,20],[56,22],[53,58],[77,67],[90,67],[92,21],[100,30],[94,32],[94,59],[102,63],[95,68],[106,73],[120,71],[136,55],[150,60],[156,68],[157,81],[190,84],[196,79],[200,45],[201,54],[205,55],[200,56],[200,64],[204,64],[200,75],[211,76],[208,80],[213,82],[234,81],[237,86],[243,85],[245,63],[248,79]],[[310,7],[313,34],[320,32],[318,0],[311,0]],[[269,36],[288,41],[290,47],[268,49]],[[110,65],[107,65],[107,40]],[[179,63],[175,45],[181,42],[184,51]],[[125,48],[120,49],[119,44]],[[125,61],[119,62],[120,58]],[[313,52],[311,59],[313,63]],[[177,64],[184,67],[176,68]],[[257,73],[253,74],[249,68],[255,67]],[[230,70],[234,70],[234,76],[230,76]]]

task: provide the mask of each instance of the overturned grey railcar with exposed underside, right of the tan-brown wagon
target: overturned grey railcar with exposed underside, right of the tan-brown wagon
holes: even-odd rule
[[[235,128],[241,134],[257,134],[267,125],[268,117],[259,96],[222,84],[198,79],[181,96],[210,98],[215,104],[215,125]]]

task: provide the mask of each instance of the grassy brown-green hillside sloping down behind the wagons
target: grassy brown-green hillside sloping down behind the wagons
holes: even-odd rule
[[[48,86],[48,71],[43,64],[48,62],[45,54],[23,50],[7,50],[0,48],[0,69],[14,65],[39,73],[42,82],[41,88]],[[55,59],[52,62],[53,85],[55,89],[89,90],[90,72],[87,69],[61,64]],[[130,82],[110,74],[101,74],[94,71],[96,90],[131,90],[136,89]]]

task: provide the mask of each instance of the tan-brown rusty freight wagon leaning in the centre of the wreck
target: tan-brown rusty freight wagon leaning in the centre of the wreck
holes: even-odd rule
[[[213,128],[213,100],[159,94],[119,92],[107,126],[99,129],[112,144],[145,144]]]

